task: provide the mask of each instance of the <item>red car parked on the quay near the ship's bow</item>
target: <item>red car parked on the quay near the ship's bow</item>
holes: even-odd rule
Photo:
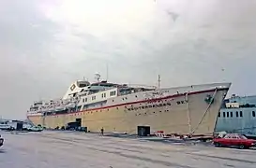
[[[248,139],[246,136],[238,133],[228,133],[223,137],[217,137],[213,140],[216,147],[256,147],[256,140]]]

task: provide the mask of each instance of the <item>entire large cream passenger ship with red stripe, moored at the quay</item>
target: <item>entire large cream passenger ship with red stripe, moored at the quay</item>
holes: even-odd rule
[[[78,121],[90,132],[213,133],[230,83],[159,89],[154,86],[76,81],[62,99],[40,101],[27,117],[47,128]]]

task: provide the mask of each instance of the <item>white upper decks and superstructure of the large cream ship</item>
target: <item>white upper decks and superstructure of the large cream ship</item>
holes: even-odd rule
[[[104,101],[132,93],[140,93],[137,95],[136,99],[144,99],[145,97],[149,96],[147,95],[148,93],[151,93],[151,96],[156,97],[159,95],[164,95],[165,93],[168,93],[168,95],[183,94],[186,92],[189,93],[194,91],[225,88],[228,89],[231,86],[231,83],[213,83],[158,90],[155,86],[116,84],[108,83],[107,81],[96,82],[90,85],[87,85],[88,82],[80,82],[80,84],[81,83],[83,84],[82,86],[78,86],[78,82],[72,83],[64,96],[65,99],[63,98],[51,101],[41,101],[37,105],[32,105],[28,113],[35,114],[40,112],[53,112],[67,109],[78,110],[78,107],[81,107],[83,105],[98,103],[100,103],[100,105],[103,105],[104,103],[106,103]],[[144,92],[144,94],[141,94],[141,92]],[[117,103],[118,101],[115,102]]]

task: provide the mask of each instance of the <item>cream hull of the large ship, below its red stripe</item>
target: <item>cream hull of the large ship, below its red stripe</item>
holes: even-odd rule
[[[47,128],[66,126],[68,122],[82,119],[82,126],[90,132],[99,132],[103,127],[106,133],[138,133],[138,126],[149,126],[151,133],[210,134],[214,132],[218,111],[228,90],[177,93],[76,113],[28,116],[28,119]],[[208,95],[213,96],[213,102],[205,102]]]

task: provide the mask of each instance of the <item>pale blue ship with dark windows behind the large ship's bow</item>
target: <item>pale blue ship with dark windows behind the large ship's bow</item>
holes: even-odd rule
[[[224,100],[216,132],[256,135],[256,96],[233,96]]]

